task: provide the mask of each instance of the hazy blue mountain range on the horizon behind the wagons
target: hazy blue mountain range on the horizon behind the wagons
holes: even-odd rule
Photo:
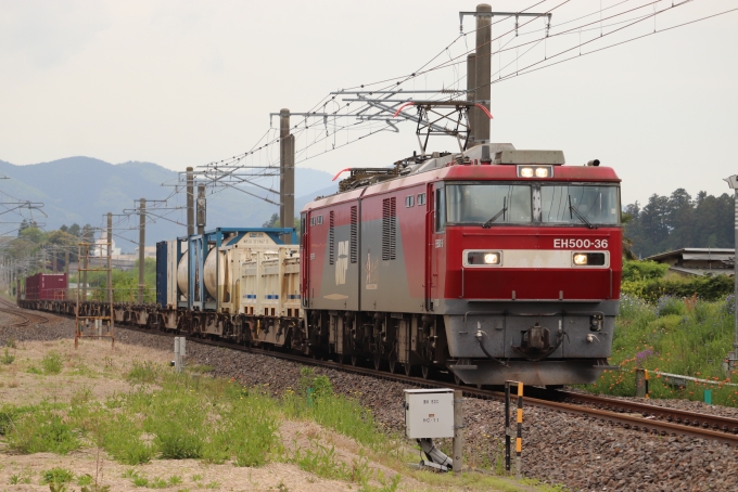
[[[103,215],[109,211],[123,213],[124,209],[138,206],[139,198],[164,199],[173,192],[173,186],[162,186],[162,183],[174,184],[178,173],[152,163],[124,163],[112,165],[90,157],[67,157],[27,166],[15,166],[0,160],[0,174],[9,180],[0,181],[0,191],[31,202],[42,202],[43,211],[48,218],[39,217],[48,231],[59,229],[62,224],[79,225],[90,223],[93,226],[104,225]],[[318,195],[327,195],[338,190],[338,184],[331,182],[331,174],[325,171],[307,168],[295,169],[295,215]],[[279,177],[267,178],[259,184],[279,190]],[[255,196],[254,196],[255,195]],[[279,212],[279,207],[264,202],[259,197],[268,196],[277,202],[278,197],[257,186],[234,189],[219,189],[207,195],[207,229],[216,226],[260,226],[269,220],[272,213]],[[184,195],[169,198],[166,207],[184,204]],[[151,205],[150,205],[151,206]],[[155,218],[155,223],[147,228],[147,244],[153,245],[157,241],[170,239],[183,235],[187,222],[184,210],[162,210],[166,217]],[[39,215],[40,216],[40,215]],[[168,220],[167,220],[168,219]],[[131,216],[126,221],[115,217],[119,229],[116,234],[138,242],[138,233],[125,231],[126,228],[138,226],[138,217]],[[124,251],[132,251],[136,244],[120,239],[118,246]]]

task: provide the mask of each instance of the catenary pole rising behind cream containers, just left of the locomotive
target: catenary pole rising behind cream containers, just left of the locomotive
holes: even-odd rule
[[[290,133],[290,109],[279,112],[279,224],[294,228],[295,221],[295,138]],[[290,244],[291,234],[282,239]]]

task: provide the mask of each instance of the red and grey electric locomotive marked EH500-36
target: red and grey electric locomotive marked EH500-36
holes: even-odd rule
[[[313,351],[500,385],[593,383],[622,270],[620,179],[482,144],[351,169],[302,211]]]

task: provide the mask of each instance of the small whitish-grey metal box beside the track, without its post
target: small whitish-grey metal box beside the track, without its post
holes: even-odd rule
[[[405,433],[410,439],[454,437],[453,389],[406,389]]]

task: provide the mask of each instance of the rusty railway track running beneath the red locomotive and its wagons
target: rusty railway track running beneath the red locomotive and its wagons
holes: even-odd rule
[[[17,308],[7,308],[8,301],[0,300],[0,311],[9,312],[24,319],[28,319],[27,311],[18,312]],[[13,307],[14,308],[14,307]],[[48,321],[46,316],[36,314]],[[41,322],[41,323],[42,323]],[[22,322],[17,326],[26,326],[30,321]],[[116,326],[118,328],[131,329],[141,333],[154,334],[160,336],[174,337],[175,334],[160,331],[142,329],[132,326]],[[496,389],[479,389],[469,386],[459,386],[450,380],[435,380],[424,377],[406,376],[387,371],[378,371],[372,367],[361,365],[344,364],[340,362],[306,358],[294,353],[278,350],[265,350],[255,347],[230,344],[227,341],[212,340],[195,336],[186,335],[188,340],[196,344],[209,345],[215,347],[238,350],[242,352],[262,354],[296,362],[300,364],[315,365],[335,371],[348,372],[368,377],[403,383],[421,388],[451,388],[463,391],[465,397],[485,400],[502,400],[504,392]],[[709,439],[722,442],[731,448],[738,449],[738,419],[718,415],[700,414],[677,409],[657,406],[648,403],[618,400],[612,398],[599,397],[594,394],[574,393],[570,391],[549,390],[537,387],[525,388],[524,402],[526,405],[545,407],[568,414],[578,414],[586,416],[593,424],[603,424],[620,426],[637,432],[658,435],[658,436],[688,436],[699,439]]]

